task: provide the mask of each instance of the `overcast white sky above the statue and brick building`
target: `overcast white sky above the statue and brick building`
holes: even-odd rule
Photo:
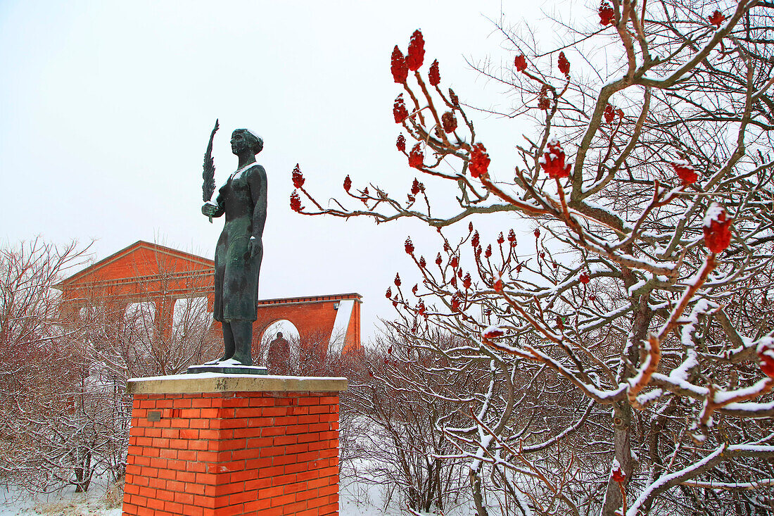
[[[442,86],[464,101],[507,105],[464,57],[512,60],[487,18],[539,17],[542,4],[2,0],[2,245],[94,239],[99,260],[142,239],[212,257],[222,219],[200,214],[201,164],[219,118],[217,184],[236,166],[231,130],[265,140],[260,297],[359,292],[371,335],[377,317],[394,315],[384,291],[396,271],[416,278],[403,240],[432,256],[437,241],[406,223],[296,215],[291,170],[301,164],[320,201],[340,195],[347,174],[405,197],[415,174],[395,149],[392,47],[405,52],[422,29],[425,73],[437,58]],[[509,174],[522,129],[474,119],[492,167]]]

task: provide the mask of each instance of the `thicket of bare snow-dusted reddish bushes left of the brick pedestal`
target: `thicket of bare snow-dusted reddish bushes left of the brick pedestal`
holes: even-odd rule
[[[197,291],[168,333],[147,307],[125,317],[124,304],[100,292],[79,311],[62,304],[53,287],[86,252],[36,240],[0,255],[0,475],[33,492],[86,491],[104,474],[120,481],[126,380],[180,372],[220,347]]]

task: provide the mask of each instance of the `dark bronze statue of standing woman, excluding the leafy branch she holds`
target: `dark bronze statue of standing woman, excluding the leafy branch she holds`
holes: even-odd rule
[[[266,171],[255,163],[263,140],[248,129],[231,134],[238,168],[217,198],[201,207],[208,217],[226,214],[215,248],[214,319],[223,325],[225,353],[218,363],[252,366],[252,323],[258,302],[258,277],[266,222]],[[225,364],[224,364],[225,365]]]

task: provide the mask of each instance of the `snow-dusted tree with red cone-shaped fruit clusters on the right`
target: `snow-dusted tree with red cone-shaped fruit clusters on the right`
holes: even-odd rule
[[[412,346],[490,371],[457,395],[471,424],[444,426],[481,516],[770,510],[774,4],[573,14],[560,47],[499,27],[513,65],[479,67],[516,99],[503,114],[532,124],[519,163],[489,155],[417,30],[391,61],[406,197],[347,176],[323,206],[296,167],[290,206],[437,232],[437,256],[406,239],[417,280],[396,275],[386,295]],[[431,201],[443,183],[454,198]],[[518,227],[447,236],[498,212]],[[460,345],[437,346],[438,329]]]

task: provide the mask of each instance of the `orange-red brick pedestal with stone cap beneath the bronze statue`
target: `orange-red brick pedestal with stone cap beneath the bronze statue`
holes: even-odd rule
[[[124,516],[338,514],[344,378],[129,380]]]

